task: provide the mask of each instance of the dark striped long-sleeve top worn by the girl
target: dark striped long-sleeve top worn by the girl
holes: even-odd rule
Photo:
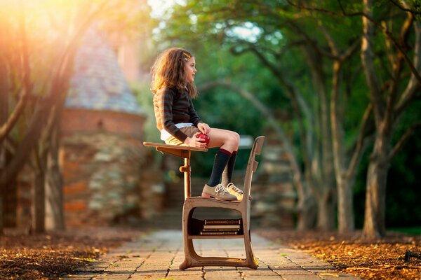
[[[197,126],[198,123],[201,123],[187,90],[164,87],[157,91],[154,94],[154,112],[158,130],[166,130],[182,142],[185,141],[187,135],[175,125],[192,123]]]

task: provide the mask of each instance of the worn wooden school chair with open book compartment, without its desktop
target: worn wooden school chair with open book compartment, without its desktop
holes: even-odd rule
[[[183,206],[182,214],[182,233],[185,250],[185,260],[180,265],[180,269],[188,267],[201,266],[229,266],[229,267],[250,267],[257,268],[258,261],[253,255],[250,239],[250,189],[253,172],[258,167],[255,160],[256,155],[260,155],[262,151],[265,137],[257,137],[254,141],[253,148],[248,158],[246,176],[244,179],[243,200],[240,202],[227,202],[215,200],[207,197],[187,197]],[[231,209],[241,214],[241,227],[238,235],[201,235],[204,221],[193,218],[194,210],[199,207],[216,207],[222,209]],[[246,258],[225,258],[225,257],[202,257],[196,253],[193,246],[193,239],[227,239],[242,238],[246,249]]]

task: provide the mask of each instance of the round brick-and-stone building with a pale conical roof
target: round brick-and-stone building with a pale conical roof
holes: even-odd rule
[[[109,225],[142,217],[142,139],[138,105],[106,36],[90,29],[76,55],[61,123],[65,220]]]

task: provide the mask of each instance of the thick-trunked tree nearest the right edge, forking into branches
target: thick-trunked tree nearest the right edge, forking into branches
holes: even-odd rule
[[[375,119],[375,139],[366,182],[366,211],[363,225],[363,236],[366,238],[385,236],[386,180],[389,165],[413,130],[421,126],[421,122],[409,125],[401,139],[392,146],[392,135],[396,124],[399,123],[401,114],[410,106],[411,101],[415,97],[420,97],[421,88],[421,25],[419,20],[415,20],[408,3],[406,1],[401,3],[403,6],[400,8],[405,9],[405,19],[398,23],[391,17],[379,24],[374,16],[373,1],[363,1],[361,61]],[[382,34],[379,31],[382,31]],[[399,41],[394,32],[398,33]],[[377,46],[374,42],[378,36],[384,36],[382,48],[387,54],[389,70],[389,75],[386,77],[377,73],[376,62],[381,58],[375,56]],[[410,49],[413,50],[412,59],[409,57]],[[408,72],[409,78],[406,78]]]

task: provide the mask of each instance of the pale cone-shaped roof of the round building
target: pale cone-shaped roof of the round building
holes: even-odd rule
[[[144,114],[128,87],[116,53],[105,36],[91,27],[76,54],[66,108]]]

